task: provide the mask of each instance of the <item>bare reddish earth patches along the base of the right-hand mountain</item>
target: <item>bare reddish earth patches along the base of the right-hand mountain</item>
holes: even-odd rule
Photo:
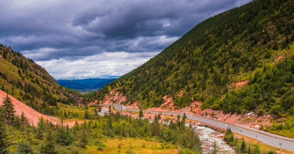
[[[247,84],[249,80],[240,81],[236,84],[236,88],[242,87],[243,85]],[[182,93],[182,92],[181,92]],[[180,93],[180,94],[181,94]],[[179,94],[179,95],[180,95]],[[259,117],[256,113],[245,113],[245,114],[230,114],[230,113],[224,113],[221,110],[211,110],[211,109],[205,109],[201,110],[201,101],[194,101],[189,106],[179,108],[176,107],[173,103],[173,99],[171,97],[168,97],[168,95],[165,95],[163,97],[164,103],[160,107],[152,107],[148,108],[148,110],[156,110],[156,111],[174,111],[174,112],[187,112],[192,113],[194,115],[200,115],[206,118],[220,120],[224,122],[234,123],[234,124],[240,124],[251,128],[260,129],[260,127],[263,126],[269,126],[270,119],[272,119],[271,115],[263,115],[262,117]],[[120,91],[119,88],[116,88],[106,97],[104,98],[104,101],[100,102],[102,104],[121,104],[122,102],[125,102],[126,96],[124,96]],[[140,104],[137,102],[134,102],[133,104],[127,105],[128,108],[133,109],[139,109]],[[152,118],[152,115],[148,115],[149,118]],[[147,118],[147,117],[146,117]]]

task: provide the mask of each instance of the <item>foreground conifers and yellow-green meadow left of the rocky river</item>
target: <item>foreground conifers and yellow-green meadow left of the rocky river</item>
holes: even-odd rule
[[[189,153],[202,152],[198,135],[192,127],[185,126],[185,116],[180,120],[179,115],[177,123],[170,125],[161,124],[160,115],[150,123],[142,119],[143,113],[139,119],[120,112],[110,112],[104,117],[95,112],[91,117],[95,121],[82,124],[76,121],[71,128],[41,118],[34,127],[28,124],[24,113],[15,116],[13,103],[7,96],[0,106],[0,153],[171,153],[174,147]],[[119,140],[107,142],[114,139]]]

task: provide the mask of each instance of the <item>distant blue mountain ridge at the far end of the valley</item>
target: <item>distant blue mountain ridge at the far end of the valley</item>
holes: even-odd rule
[[[81,80],[57,80],[57,83],[74,90],[98,90],[115,79],[81,79]]]

